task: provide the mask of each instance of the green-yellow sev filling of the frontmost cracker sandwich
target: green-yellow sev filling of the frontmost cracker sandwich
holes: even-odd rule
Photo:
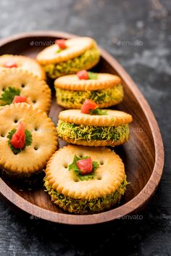
[[[120,199],[123,194],[125,194],[126,185],[128,182],[126,181],[126,176],[122,181],[119,189],[113,192],[112,194],[107,194],[104,197],[98,197],[91,200],[88,199],[73,199],[72,197],[65,197],[64,194],[59,194],[57,191],[52,189],[49,181],[47,181],[46,177],[44,178],[44,185],[46,186],[46,191],[48,191],[51,196],[52,201],[62,207],[64,210],[68,210],[69,212],[74,213],[91,213],[91,212],[101,212],[103,210],[107,210],[117,202],[120,202]]]

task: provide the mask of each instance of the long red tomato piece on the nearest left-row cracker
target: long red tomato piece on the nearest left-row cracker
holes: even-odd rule
[[[11,144],[15,149],[22,149],[25,146],[25,127],[20,122],[17,131],[12,135]]]

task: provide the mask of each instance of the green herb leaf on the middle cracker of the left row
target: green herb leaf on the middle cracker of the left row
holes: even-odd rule
[[[1,104],[1,106],[5,106],[7,104],[12,104],[12,101],[14,99],[14,96],[20,95],[20,89],[9,87],[3,91],[1,94],[0,100],[4,103]]]

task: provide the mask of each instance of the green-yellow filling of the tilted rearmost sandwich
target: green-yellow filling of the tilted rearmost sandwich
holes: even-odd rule
[[[74,74],[83,70],[91,63],[99,61],[99,50],[96,47],[88,49],[80,56],[69,59],[66,62],[43,65],[44,70],[50,78],[57,78],[66,74]]]

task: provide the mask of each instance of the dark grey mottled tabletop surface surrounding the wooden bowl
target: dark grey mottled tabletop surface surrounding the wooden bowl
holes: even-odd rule
[[[21,219],[0,202],[0,255],[171,255],[171,2],[1,0],[0,9],[1,37],[63,30],[95,38],[138,84],[165,147],[162,182],[149,207],[134,220],[120,220],[117,228],[99,228],[93,237],[33,216]]]

